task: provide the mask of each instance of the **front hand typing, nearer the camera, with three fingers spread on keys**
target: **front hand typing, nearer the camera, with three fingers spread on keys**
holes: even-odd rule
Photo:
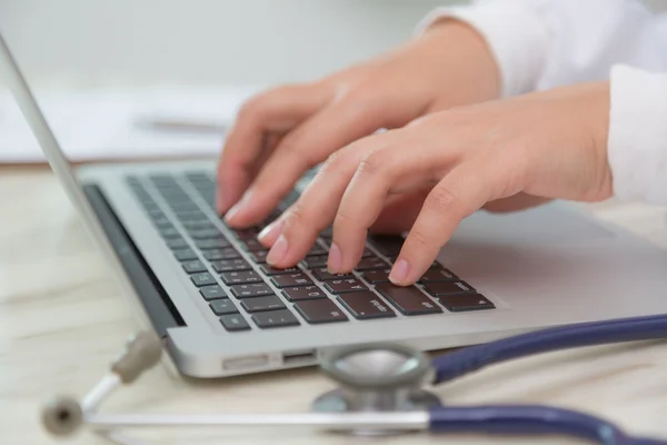
[[[295,265],[334,222],[328,267],[350,271],[378,215],[400,212],[396,204],[410,196],[417,199],[400,224],[414,225],[390,275],[410,285],[460,221],[489,202],[609,198],[608,113],[608,83],[590,83],[432,113],[358,140],[331,156],[262,231],[272,246],[267,260]]]

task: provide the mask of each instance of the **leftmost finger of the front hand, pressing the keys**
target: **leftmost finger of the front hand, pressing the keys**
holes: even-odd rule
[[[367,140],[374,139],[375,146],[392,138],[391,131],[367,137],[331,156],[283,220],[261,234],[262,244],[272,245],[267,261],[275,267],[291,267],[301,260],[318,234],[334,220],[347,186],[371,147]],[[336,255],[337,247],[331,246],[330,257]]]

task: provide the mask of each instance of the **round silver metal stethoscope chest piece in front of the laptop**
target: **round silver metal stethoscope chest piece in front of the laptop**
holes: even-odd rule
[[[323,355],[320,367],[339,387],[315,399],[316,413],[387,413],[428,411],[439,398],[422,389],[430,360],[402,345],[362,345]],[[355,429],[357,435],[398,432]],[[405,433],[405,432],[404,432]]]

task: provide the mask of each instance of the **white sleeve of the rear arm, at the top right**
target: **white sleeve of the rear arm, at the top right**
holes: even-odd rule
[[[429,13],[474,27],[494,53],[502,96],[609,78],[616,63],[667,71],[667,16],[639,0],[472,0]]]

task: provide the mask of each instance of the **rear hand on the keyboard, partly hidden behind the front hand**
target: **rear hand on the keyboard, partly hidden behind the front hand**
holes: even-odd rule
[[[217,209],[232,227],[258,224],[338,149],[436,110],[495,99],[499,83],[482,38],[447,20],[382,57],[260,93],[241,107],[227,138]]]

